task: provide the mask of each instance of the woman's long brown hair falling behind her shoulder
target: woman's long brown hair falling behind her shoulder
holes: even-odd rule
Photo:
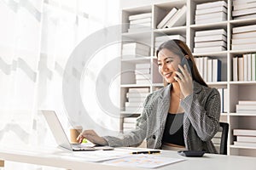
[[[192,55],[189,47],[186,45],[185,42],[180,41],[180,40],[168,40],[166,42],[163,42],[160,47],[156,50],[156,57],[158,57],[158,54],[160,52],[161,49],[166,48],[168,50],[170,50],[172,53],[177,54],[177,56],[180,57],[180,59],[183,59],[183,57],[185,57],[185,55],[189,56],[188,63],[189,63],[189,69],[191,71],[192,74],[192,78],[193,80],[195,80],[195,82],[200,83],[203,86],[207,86],[207,83],[202,79],[199,71],[197,70],[197,67],[195,65],[195,59],[194,56]]]

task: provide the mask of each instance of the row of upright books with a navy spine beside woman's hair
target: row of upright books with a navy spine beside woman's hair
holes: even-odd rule
[[[195,65],[206,82],[221,81],[221,60],[210,57],[196,57]]]

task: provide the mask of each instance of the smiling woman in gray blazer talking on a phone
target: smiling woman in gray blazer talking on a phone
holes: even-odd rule
[[[148,148],[218,153],[211,141],[219,128],[218,90],[207,87],[184,42],[164,42],[156,55],[166,87],[145,99],[136,128],[119,137],[99,137],[93,130],[85,130],[79,141],[86,138],[94,144],[137,146],[146,139]]]

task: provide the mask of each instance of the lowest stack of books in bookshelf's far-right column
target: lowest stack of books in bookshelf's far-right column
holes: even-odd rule
[[[253,129],[234,129],[236,141],[234,145],[244,147],[256,147],[256,130]]]

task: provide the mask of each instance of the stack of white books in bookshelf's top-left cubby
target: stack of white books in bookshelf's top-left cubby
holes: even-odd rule
[[[128,32],[151,30],[152,13],[133,14],[129,16]]]

